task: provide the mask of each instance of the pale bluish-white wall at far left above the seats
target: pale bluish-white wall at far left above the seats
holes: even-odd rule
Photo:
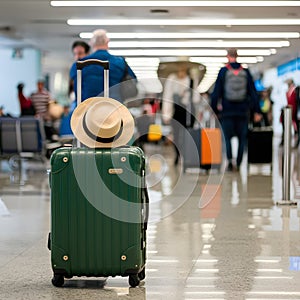
[[[13,49],[0,49],[0,105],[5,112],[20,114],[17,85],[25,84],[24,94],[36,90],[36,82],[41,77],[41,55],[38,50],[24,49],[22,58],[13,58]]]

